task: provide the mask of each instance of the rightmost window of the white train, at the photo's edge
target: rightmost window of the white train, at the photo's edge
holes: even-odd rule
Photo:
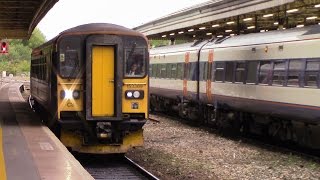
[[[304,76],[305,86],[316,88],[319,87],[319,69],[320,69],[320,59],[317,60],[307,60],[306,72]]]

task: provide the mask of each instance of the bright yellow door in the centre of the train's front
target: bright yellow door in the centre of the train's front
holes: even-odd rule
[[[113,46],[92,47],[92,116],[112,117],[114,111],[114,64]]]

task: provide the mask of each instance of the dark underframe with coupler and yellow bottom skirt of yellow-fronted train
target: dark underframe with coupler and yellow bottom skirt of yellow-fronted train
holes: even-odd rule
[[[143,146],[145,118],[126,116],[121,121],[87,121],[81,112],[63,112],[58,120],[37,101],[33,109],[70,150],[80,153],[119,154]]]

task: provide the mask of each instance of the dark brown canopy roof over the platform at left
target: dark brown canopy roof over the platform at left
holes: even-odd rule
[[[59,0],[0,0],[0,39],[28,39]]]

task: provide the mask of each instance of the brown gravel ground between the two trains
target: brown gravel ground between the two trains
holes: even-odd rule
[[[320,179],[320,163],[151,116],[127,156],[160,179]]]

